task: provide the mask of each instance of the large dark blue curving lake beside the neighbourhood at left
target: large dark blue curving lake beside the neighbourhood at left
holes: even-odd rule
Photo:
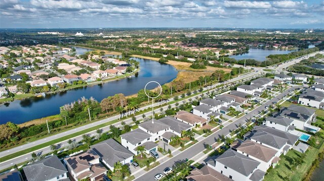
[[[89,51],[85,48],[81,51]],[[91,49],[90,49],[91,50]],[[80,52],[80,48],[77,48]],[[78,53],[77,52],[77,53]],[[99,102],[108,96],[123,93],[124,95],[136,94],[140,89],[144,89],[149,81],[156,81],[161,85],[171,82],[177,77],[177,70],[168,64],[160,64],[143,58],[135,58],[140,63],[138,77],[125,78],[106,82],[102,84],[70,89],[64,92],[46,95],[46,97],[31,97],[24,100],[15,100],[9,105],[0,106],[0,124],[12,122],[20,124],[28,120],[58,114],[60,107],[64,104],[76,101],[80,97],[94,97]],[[154,84],[149,84],[147,88],[153,89]]]

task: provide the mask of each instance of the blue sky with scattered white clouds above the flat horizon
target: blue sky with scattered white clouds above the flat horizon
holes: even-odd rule
[[[324,28],[324,1],[0,0],[1,28]]]

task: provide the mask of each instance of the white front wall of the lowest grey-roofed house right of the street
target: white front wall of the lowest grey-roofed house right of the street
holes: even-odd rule
[[[252,175],[252,173],[249,176],[245,176],[244,174],[241,174],[229,167],[225,168],[224,164],[217,162],[216,161],[216,165],[212,166],[210,164],[207,164],[208,166],[212,167],[214,170],[222,173],[223,175],[229,177],[230,175],[232,176],[233,180],[240,180],[240,181],[249,181],[250,176]]]

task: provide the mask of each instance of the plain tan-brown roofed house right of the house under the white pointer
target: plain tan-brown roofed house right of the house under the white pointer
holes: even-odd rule
[[[176,119],[182,121],[183,123],[186,123],[188,125],[191,125],[195,127],[196,125],[200,125],[200,127],[207,125],[208,120],[197,116],[195,114],[192,114],[190,112],[181,110],[176,113],[174,116]]]

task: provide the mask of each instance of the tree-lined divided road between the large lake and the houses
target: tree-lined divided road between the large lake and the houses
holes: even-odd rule
[[[242,75],[242,76],[236,77],[236,78],[234,78],[234,79],[231,79],[231,80],[229,80],[227,83],[235,82],[235,81],[237,81],[237,80],[242,80],[242,79],[252,78],[252,77],[254,77],[254,76],[257,76],[258,74],[260,74],[260,72],[251,72],[250,74]],[[204,90],[210,89],[211,87],[216,87],[216,86],[218,86],[218,85],[220,85],[220,83],[217,83],[217,84],[215,84],[215,85],[213,85],[213,86],[206,87],[206,88],[204,88]],[[198,95],[200,95],[200,94],[198,94]],[[188,99],[189,99],[189,98],[187,98],[187,99],[185,99],[185,100],[188,100]],[[194,97],[191,97],[191,99],[194,100]],[[172,101],[172,100],[173,100],[173,98],[171,98],[169,101]],[[172,106],[172,107],[175,107],[175,106],[176,106],[175,104],[176,104],[176,103],[171,104],[171,106]],[[157,106],[157,105],[158,105],[158,103],[155,103],[155,104],[154,104],[154,106]],[[169,106],[169,105],[166,104],[166,106],[164,106],[163,108],[164,108],[164,109],[167,109],[168,106]],[[146,108],[148,108],[148,107],[151,107],[151,105],[147,105],[147,106],[141,107],[141,108],[139,108],[139,110],[143,110],[143,109],[146,109]],[[159,112],[159,109],[160,109],[160,108],[155,109],[154,112],[155,112],[155,113],[158,113],[158,112]],[[147,112],[147,113],[145,113],[145,115],[147,115],[147,116],[149,116],[150,114],[151,114],[151,112]],[[53,136],[50,136],[50,137],[47,137],[47,138],[43,138],[43,139],[40,139],[40,140],[37,140],[37,141],[31,142],[31,143],[27,143],[27,144],[24,144],[24,145],[21,145],[21,146],[18,146],[18,147],[15,147],[15,148],[12,148],[12,149],[9,149],[9,150],[6,150],[6,151],[3,151],[3,152],[0,153],[0,155],[1,155],[1,157],[4,157],[4,156],[6,156],[6,155],[10,155],[10,154],[16,153],[16,152],[21,151],[21,150],[23,150],[23,149],[31,148],[31,147],[34,147],[34,146],[36,146],[36,145],[43,144],[43,143],[46,143],[46,142],[48,142],[48,141],[51,141],[51,140],[55,140],[55,139],[58,139],[58,138],[64,137],[64,136],[66,136],[66,135],[70,135],[70,134],[73,134],[73,133],[76,133],[76,132],[79,132],[79,131],[83,131],[83,130],[85,130],[85,129],[89,129],[89,128],[91,128],[91,127],[95,127],[95,126],[98,126],[98,125],[101,125],[101,124],[104,124],[104,123],[111,122],[112,120],[115,120],[115,119],[117,119],[118,117],[119,117],[119,115],[115,115],[115,116],[112,116],[112,117],[108,117],[108,118],[105,118],[105,119],[99,120],[99,121],[97,121],[97,122],[93,122],[93,123],[91,123],[91,124],[89,124],[89,125],[85,125],[85,126],[82,126],[82,127],[78,127],[78,128],[75,128],[75,129],[72,129],[72,130],[68,130],[68,131],[66,131],[66,132],[62,132],[62,133],[59,133],[59,134],[56,134],[56,135],[53,135]],[[142,115],[138,115],[138,116],[135,116],[135,117],[136,117],[137,119],[142,119]],[[125,122],[126,124],[132,124],[132,119],[131,119],[131,118],[125,119],[124,122]],[[115,123],[115,124],[113,124],[113,125],[116,126],[116,127],[121,127],[120,122]],[[102,128],[102,131],[103,131],[103,132],[107,132],[107,131],[109,131],[109,126]],[[95,136],[95,135],[97,135],[96,131],[92,131],[92,132],[89,132],[89,133],[87,133],[87,134],[89,134],[89,135],[91,135],[91,136]],[[76,142],[82,141],[82,135],[80,135],[80,136],[76,136],[76,137],[74,137],[74,138],[71,138],[71,140],[75,140]],[[67,141],[68,141],[68,140],[62,141],[62,142],[60,142],[60,143],[57,143],[56,145],[58,146],[58,148],[65,147],[65,146],[68,145]],[[42,148],[42,149],[39,149],[39,150],[36,150],[36,151],[33,151],[33,152],[36,153],[36,154],[43,154],[43,155],[44,155],[44,154],[47,154],[47,153],[52,152],[52,150],[50,149],[50,146],[48,146],[48,147],[44,147],[44,148]],[[3,161],[3,162],[1,162],[1,163],[0,163],[0,170],[3,170],[3,169],[5,169],[5,168],[8,168],[8,167],[13,166],[13,165],[15,165],[15,164],[19,164],[19,163],[22,163],[22,162],[25,162],[25,161],[30,160],[30,159],[31,159],[31,153],[32,153],[32,152],[27,153],[27,154],[24,154],[24,155],[21,155],[21,156],[17,156],[17,157],[15,157],[15,158],[10,159],[10,160],[7,160],[7,161]],[[1,157],[0,157],[0,158],[1,158]]]

